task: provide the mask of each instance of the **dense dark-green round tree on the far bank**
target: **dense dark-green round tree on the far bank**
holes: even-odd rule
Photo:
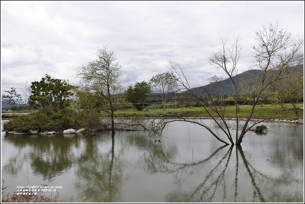
[[[128,86],[127,91],[125,92],[125,100],[132,104],[141,103],[143,109],[145,110],[145,101],[152,94],[152,87],[150,83],[142,81],[136,82],[135,86]]]

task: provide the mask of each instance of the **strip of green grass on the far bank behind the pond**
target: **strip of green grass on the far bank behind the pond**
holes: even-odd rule
[[[296,105],[298,110],[298,118],[303,117],[303,109],[300,109],[303,107],[303,103],[299,103]],[[247,118],[249,113],[251,112],[251,106],[249,105],[240,105],[238,107],[238,118]],[[153,109],[151,110],[153,114],[156,115],[164,115],[164,114],[179,114],[180,116],[185,117],[210,117],[209,114],[206,112],[206,110],[203,107],[189,107],[189,108],[179,108],[179,109],[166,109],[166,110],[160,110],[160,109]],[[219,111],[221,112],[221,111]],[[224,114],[224,117],[228,118],[235,118],[235,106],[227,106],[222,108],[222,113]],[[150,112],[143,112],[143,111],[136,111],[133,109],[128,110],[121,110],[117,112],[118,116],[152,116]],[[213,116],[218,117],[216,114],[213,114]],[[266,119],[266,118],[275,118],[278,117],[278,119],[286,119],[291,120],[293,118],[297,118],[296,114],[294,113],[294,109],[292,105],[286,104],[285,109],[283,109],[279,105],[274,104],[268,104],[268,105],[258,105],[255,107],[255,111],[252,115],[253,119]]]

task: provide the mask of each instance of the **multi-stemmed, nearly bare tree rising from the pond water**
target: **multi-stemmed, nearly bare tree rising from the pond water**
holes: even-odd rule
[[[218,90],[221,94],[213,94],[213,91],[204,87],[200,89],[191,88],[185,69],[176,61],[169,60],[168,68],[178,75],[178,84],[184,88],[184,93],[188,93],[201,103],[209,114],[210,118],[217,124],[221,132],[229,139],[231,145],[240,145],[246,133],[258,123],[271,119],[264,117],[262,120],[251,120],[255,111],[263,108],[256,108],[258,102],[265,97],[271,84],[285,79],[289,75],[285,70],[289,67],[298,66],[303,63],[303,38],[294,38],[287,28],[280,27],[278,24],[270,24],[269,27],[262,26],[261,30],[255,32],[255,44],[252,45],[253,57],[256,62],[251,69],[258,69],[255,79],[247,80],[236,77],[238,73],[237,64],[242,54],[243,45],[240,44],[240,37],[230,40],[220,37],[219,44],[212,46],[212,53],[209,57],[210,65],[216,69],[222,69],[227,74],[233,88],[233,98],[235,104],[234,123],[225,117],[225,107],[221,105],[225,90],[223,84],[219,84]],[[211,82],[219,82],[217,77],[212,77]],[[221,82],[219,82],[221,83]],[[243,92],[252,98],[252,108],[248,117],[240,121],[238,115],[238,91],[242,88]],[[219,141],[228,144],[221,138],[221,134],[211,125],[203,120],[185,119],[176,116],[174,120],[159,120],[152,122],[151,135],[160,138],[165,125],[172,121],[186,121],[196,123],[206,128]],[[235,141],[233,140],[235,134]]]

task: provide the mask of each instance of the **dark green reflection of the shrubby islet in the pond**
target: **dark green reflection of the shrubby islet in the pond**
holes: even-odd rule
[[[30,161],[33,173],[42,175],[44,180],[52,179],[71,168],[77,156],[73,149],[79,148],[79,138],[65,138],[63,135],[10,135],[4,137],[14,145],[14,156],[2,165],[7,174],[17,174],[24,161]]]

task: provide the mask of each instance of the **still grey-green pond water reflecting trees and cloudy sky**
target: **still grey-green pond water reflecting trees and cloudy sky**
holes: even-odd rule
[[[71,197],[88,202],[304,202],[303,125],[264,124],[269,131],[249,133],[241,147],[224,146],[202,127],[184,122],[170,123],[160,142],[143,131],[93,137],[2,132],[5,194],[17,186],[46,184],[57,187],[62,202]]]

